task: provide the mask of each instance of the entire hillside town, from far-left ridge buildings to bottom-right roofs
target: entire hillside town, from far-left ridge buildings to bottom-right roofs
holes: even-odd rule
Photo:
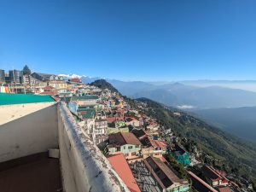
[[[52,96],[65,102],[84,134],[101,149],[113,169],[133,192],[253,191],[251,183],[238,185],[233,177],[201,162],[204,154],[172,127],[160,125],[149,116],[147,103],[137,108],[117,91],[84,84],[79,77],[67,79],[54,74],[0,70],[1,94]],[[173,115],[181,115],[178,112]]]

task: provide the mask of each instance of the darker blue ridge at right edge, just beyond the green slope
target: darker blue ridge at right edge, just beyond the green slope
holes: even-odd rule
[[[210,125],[256,143],[256,107],[214,108],[192,113]]]

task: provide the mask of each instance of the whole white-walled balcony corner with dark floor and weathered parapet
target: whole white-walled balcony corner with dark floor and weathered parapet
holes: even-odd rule
[[[65,104],[0,106],[0,191],[129,191]]]

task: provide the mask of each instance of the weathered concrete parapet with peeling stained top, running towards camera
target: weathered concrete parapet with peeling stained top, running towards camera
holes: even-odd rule
[[[59,104],[58,119],[64,191],[129,191],[62,103]]]

